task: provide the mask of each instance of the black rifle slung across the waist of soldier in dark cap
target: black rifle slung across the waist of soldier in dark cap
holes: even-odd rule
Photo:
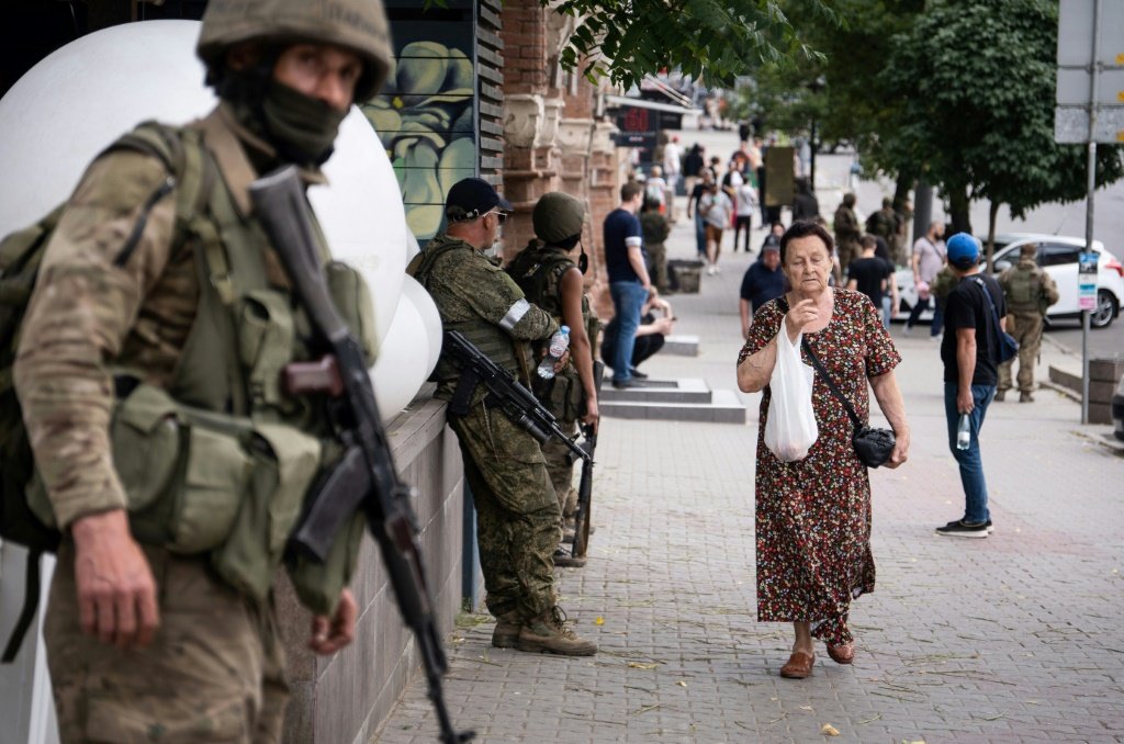
[[[565,432],[559,428],[558,419],[535,398],[535,393],[524,388],[511,373],[488,359],[456,330],[445,332],[442,352],[448,352],[453,363],[461,368],[461,379],[456,383],[448,410],[454,416],[469,412],[469,399],[477,384],[488,388],[489,402],[499,406],[511,423],[526,430],[544,444],[554,437],[570,448],[572,456],[584,461],[592,455],[574,444]]]

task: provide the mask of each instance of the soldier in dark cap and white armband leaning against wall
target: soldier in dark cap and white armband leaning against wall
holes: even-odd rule
[[[527,342],[545,342],[558,324],[483,254],[497,242],[510,209],[482,179],[453,184],[445,200],[447,228],[414,257],[407,272],[433,297],[445,330],[460,332],[529,384]],[[443,352],[433,376],[436,397],[452,400],[460,376]],[[562,538],[561,510],[537,439],[490,406],[483,385],[471,391],[468,409],[464,416],[451,415],[448,424],[461,443],[477,508],[486,601],[496,617],[492,645],[574,656],[597,653],[597,645],[579,638],[558,607],[552,555]]]

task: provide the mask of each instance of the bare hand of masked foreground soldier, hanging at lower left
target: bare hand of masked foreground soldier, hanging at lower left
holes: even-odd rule
[[[146,646],[160,625],[156,582],[124,509],[71,527],[82,632],[118,648]]]

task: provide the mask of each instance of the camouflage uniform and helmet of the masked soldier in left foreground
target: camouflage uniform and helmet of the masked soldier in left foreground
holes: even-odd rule
[[[302,6],[212,0],[198,49],[210,74],[228,46],[268,34],[272,19],[283,15],[285,38],[356,52],[364,63],[356,91],[373,94],[390,61],[381,4],[328,0],[317,7],[318,15],[305,13]],[[346,24],[338,20],[344,17]],[[264,70],[260,74],[272,74]],[[291,298],[282,299],[289,298],[288,280],[253,216],[247,189],[260,173],[292,161],[245,125],[244,109],[223,101],[190,128],[163,128],[214,169],[214,178],[193,181],[201,200],[190,220],[182,220],[179,203],[189,179],[174,163],[161,162],[158,151],[110,149],[89,166],[47,245],[21,328],[15,381],[38,468],[29,502],[34,508],[33,490],[42,492],[48,514],[40,518],[49,518],[64,535],[83,517],[129,509],[160,610],[154,641],[145,647],[121,651],[83,634],[75,544],[64,537],[44,625],[64,742],[281,741],[289,691],[270,582],[303,491],[330,445],[319,439],[328,423],[288,399],[279,375],[255,376],[264,368],[252,357],[283,365],[308,353],[297,332],[307,321]],[[323,181],[315,166],[303,174],[307,182]],[[254,311],[252,296],[263,312]],[[279,332],[250,337],[252,320]],[[256,352],[248,347],[255,341],[261,343]],[[211,548],[180,550],[138,529],[144,511],[133,510],[133,499],[143,495],[130,479],[162,459],[139,451],[115,460],[115,447],[118,414],[144,397],[142,391],[170,401],[176,417],[191,408],[215,421],[250,421],[255,437],[265,433],[260,452],[250,452],[239,437],[227,432],[223,439],[200,421],[178,428],[179,418],[161,416],[147,432],[155,442],[160,430],[171,428],[173,437],[191,443],[187,454],[172,451],[187,461],[188,474],[176,464],[176,481],[161,487],[157,499],[165,492],[185,499],[189,486],[203,492],[214,488],[215,511],[233,515]],[[208,438],[212,444],[223,439],[224,446],[197,450]],[[298,441],[308,448],[291,457],[284,447]],[[257,455],[265,451],[274,457],[271,473],[259,468]],[[307,480],[288,480],[293,469],[307,471]],[[193,477],[201,480],[187,482]],[[292,488],[282,501],[287,481]],[[268,521],[257,518],[262,514]],[[170,528],[183,524],[179,511],[167,520]],[[208,520],[214,521],[205,509],[198,525],[206,527]],[[353,519],[348,538],[336,541],[333,555],[343,546],[344,561],[353,566],[361,534],[361,521]],[[224,554],[233,545],[257,550],[244,556],[247,561],[263,559],[253,577],[243,577],[246,583],[224,570],[232,557]],[[333,597],[330,606],[309,605],[318,614],[334,613],[339,596],[341,587],[329,589],[325,573],[312,570],[312,584]],[[298,596],[309,604],[297,570],[293,575]]]

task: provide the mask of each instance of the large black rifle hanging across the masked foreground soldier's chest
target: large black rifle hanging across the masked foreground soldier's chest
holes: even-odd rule
[[[303,184],[296,166],[287,166],[254,181],[250,193],[289,281],[308,312],[320,346],[318,351],[334,357],[337,368],[335,380],[330,373],[325,375],[325,392],[336,393],[333,418],[346,454],[312,495],[315,501],[292,542],[323,560],[338,532],[326,527],[338,527],[356,509],[363,510],[390,574],[398,609],[417,638],[441,741],[466,742],[473,732],[453,729],[442,696],[441,678],[448,662],[433,617],[432,593],[417,538],[417,517],[410,507],[411,489],[395,470],[363,351],[341,318],[324,279]]]

